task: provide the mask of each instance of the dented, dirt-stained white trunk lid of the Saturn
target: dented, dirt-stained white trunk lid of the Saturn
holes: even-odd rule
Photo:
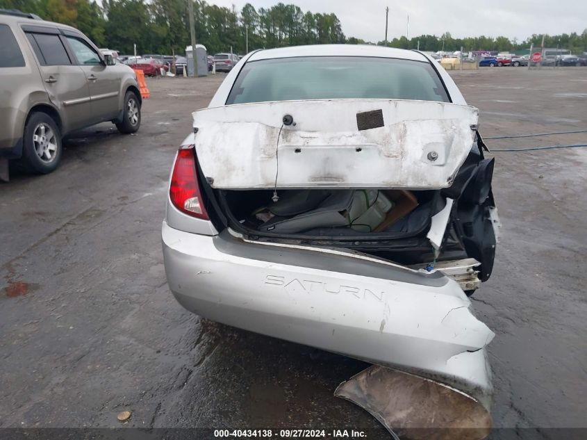
[[[374,113],[359,115],[365,112]],[[295,125],[282,128],[284,115]],[[330,99],[237,104],[193,116],[197,157],[213,188],[426,189],[452,184],[479,111],[433,101]]]

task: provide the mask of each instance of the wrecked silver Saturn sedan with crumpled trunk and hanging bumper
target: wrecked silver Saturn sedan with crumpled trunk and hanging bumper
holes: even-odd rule
[[[468,295],[493,268],[494,159],[443,67],[377,46],[255,51],[193,115],[162,227],[183,307],[490,393],[494,334]]]

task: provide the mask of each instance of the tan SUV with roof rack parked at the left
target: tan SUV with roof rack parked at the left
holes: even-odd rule
[[[99,122],[139,129],[135,73],[76,28],[0,10],[0,41],[0,170],[22,159],[33,172],[51,172],[63,136]]]

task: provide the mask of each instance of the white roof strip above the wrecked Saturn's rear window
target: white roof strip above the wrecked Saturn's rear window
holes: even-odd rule
[[[290,46],[277,49],[263,49],[251,54],[247,61],[269,60],[272,58],[293,58],[297,56],[365,56],[376,58],[401,58],[429,62],[420,52],[396,49],[395,47],[369,44],[315,44],[311,46]]]

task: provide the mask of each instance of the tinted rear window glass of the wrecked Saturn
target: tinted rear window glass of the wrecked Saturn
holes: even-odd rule
[[[316,56],[245,64],[226,104],[297,99],[450,101],[438,74],[427,62]]]

